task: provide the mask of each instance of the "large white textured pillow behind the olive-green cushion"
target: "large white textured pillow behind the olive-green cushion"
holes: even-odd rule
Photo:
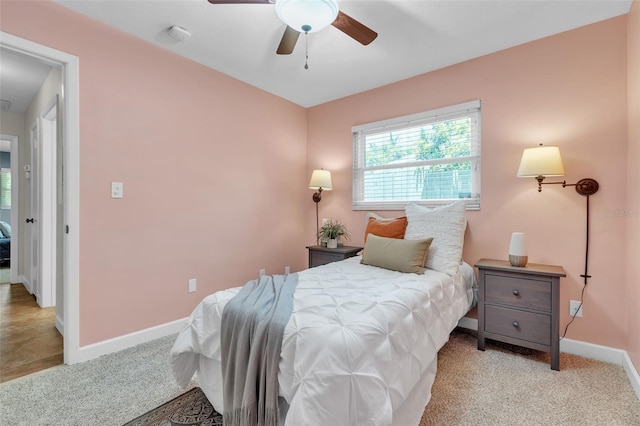
[[[406,240],[433,238],[425,266],[429,269],[455,275],[462,261],[464,232],[467,229],[464,201],[429,209],[409,203]]]

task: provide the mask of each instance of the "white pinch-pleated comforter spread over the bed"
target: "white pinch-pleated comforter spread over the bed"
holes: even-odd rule
[[[437,352],[473,304],[473,277],[467,264],[451,278],[361,265],[359,256],[299,272],[280,360],[285,424],[417,425]],[[219,412],[220,316],[238,291],[205,298],[171,350],[178,384],[197,371]]]

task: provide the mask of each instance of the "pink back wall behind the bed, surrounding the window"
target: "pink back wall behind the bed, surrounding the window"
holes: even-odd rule
[[[574,189],[515,176],[522,150],[561,147],[567,182],[599,181],[591,197],[592,240],[584,317],[568,338],[624,348],[626,304],[626,16],[420,75],[309,110],[309,170],[331,170],[322,217],[336,217],[361,243],[365,212],[351,210],[351,127],[473,99],[482,100],[482,209],[468,212],[464,257],[505,258],[514,231],[528,236],[529,261],[562,265],[561,326],[579,299],[586,199]],[[381,212],[387,216],[401,212]],[[311,211],[309,223],[313,223]],[[311,238],[308,238],[311,242]]]

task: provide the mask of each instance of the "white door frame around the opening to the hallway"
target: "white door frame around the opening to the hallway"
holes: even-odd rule
[[[81,362],[80,352],[80,69],[79,58],[66,52],[33,41],[0,32],[0,46],[16,53],[32,56],[62,66],[62,107],[58,111],[62,120],[63,143],[63,336],[64,363]]]

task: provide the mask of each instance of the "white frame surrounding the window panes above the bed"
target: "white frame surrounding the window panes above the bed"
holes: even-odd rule
[[[481,101],[475,100],[462,104],[451,105],[417,114],[392,118],[374,123],[352,127],[353,134],[353,210],[404,210],[408,202],[420,205],[437,207],[449,204],[458,199],[406,199],[406,200],[364,200],[364,174],[366,171],[377,169],[406,168],[407,166],[422,166],[435,164],[442,160],[425,160],[411,163],[365,167],[365,136],[378,133],[380,130],[396,130],[416,127],[416,125],[428,125],[430,123],[445,121],[448,118],[456,118],[468,115],[472,118],[472,152],[468,157],[459,157],[456,160],[472,161],[472,190],[470,198],[463,198],[467,210],[480,210],[481,195]],[[473,140],[475,139],[475,140]]]

